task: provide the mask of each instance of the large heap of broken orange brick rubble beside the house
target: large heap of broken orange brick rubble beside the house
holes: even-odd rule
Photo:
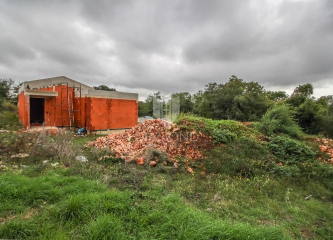
[[[180,129],[174,123],[154,119],[120,133],[99,137],[88,145],[110,148],[116,157],[126,162],[135,160],[138,164],[149,160],[145,159],[147,149],[156,149],[167,154],[170,162],[177,163],[178,157],[184,157],[187,161],[201,158],[202,150],[213,146],[213,139],[201,131]],[[155,165],[154,162],[149,163]]]

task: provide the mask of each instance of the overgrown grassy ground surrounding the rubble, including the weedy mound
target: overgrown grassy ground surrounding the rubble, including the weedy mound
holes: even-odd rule
[[[227,142],[193,162],[193,174],[185,166],[98,160],[110,152],[85,146],[96,136],[0,133],[0,238],[333,238],[331,166],[304,160],[279,167],[274,140],[258,140],[264,136],[234,121],[206,122],[207,131],[215,124],[234,134],[217,135]],[[310,139],[299,144],[323,154]],[[10,157],[19,151],[30,156]],[[289,158],[308,152],[299,154]]]

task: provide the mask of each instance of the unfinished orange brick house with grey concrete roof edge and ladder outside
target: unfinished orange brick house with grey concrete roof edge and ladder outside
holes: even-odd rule
[[[96,90],[66,76],[23,82],[18,104],[28,129],[44,124],[101,131],[137,123],[137,93]]]

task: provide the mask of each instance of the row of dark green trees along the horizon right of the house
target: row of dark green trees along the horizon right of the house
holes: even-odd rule
[[[139,101],[139,116],[152,115],[152,99],[160,92]],[[308,134],[333,136],[333,95],[313,96],[313,85],[297,86],[291,95],[285,91],[269,91],[258,82],[247,82],[231,76],[226,83],[210,82],[195,94],[175,92],[180,97],[180,111],[212,119],[260,121],[265,112],[283,104],[292,112],[302,130]]]

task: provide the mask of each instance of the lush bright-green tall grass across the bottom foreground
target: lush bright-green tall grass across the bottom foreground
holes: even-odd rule
[[[34,193],[37,202],[38,199],[47,201],[46,204],[42,203],[43,207],[39,207],[41,202],[34,204],[31,200],[25,200],[31,189],[24,188],[17,194],[12,188],[15,184],[25,185],[27,178],[12,178],[12,187],[2,191],[0,202],[10,193],[13,199],[15,197],[18,201],[38,207],[39,213],[29,220],[23,220],[24,213],[15,219],[6,220],[5,224],[0,225],[0,238],[44,238],[53,232],[62,237],[75,237],[79,234],[87,239],[288,239],[278,227],[253,227],[241,222],[214,219],[201,210],[187,206],[177,194],[155,198],[97,187],[67,195],[65,188],[73,189],[73,185],[77,187],[79,178],[72,178],[71,182],[66,177],[61,180],[62,177],[55,176],[59,179],[51,177],[46,180],[51,184],[49,187],[62,186],[59,200],[55,204],[50,204],[52,201],[48,201],[48,194]],[[10,174],[1,176],[1,179],[10,183]],[[89,183],[83,178],[80,181]],[[80,190],[82,189],[77,189]],[[90,193],[91,190],[93,192]],[[45,193],[47,190],[41,189],[41,192]],[[13,205],[18,201],[13,202]],[[2,212],[8,210],[2,209]],[[43,223],[36,224],[37,221]],[[63,233],[60,234],[59,229],[63,229]]]

